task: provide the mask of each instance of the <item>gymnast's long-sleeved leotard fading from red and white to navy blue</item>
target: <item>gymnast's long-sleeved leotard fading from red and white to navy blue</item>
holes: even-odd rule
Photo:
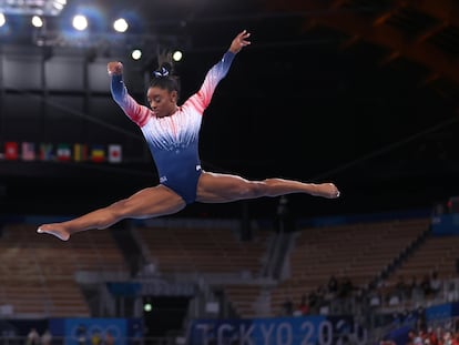
[[[182,196],[187,204],[196,199],[197,181],[202,173],[198,155],[202,115],[233,59],[234,54],[227,51],[207,72],[200,91],[165,118],[156,118],[151,109],[140,105],[128,93],[122,75],[112,77],[112,97],[141,128],[156,164],[160,183]]]

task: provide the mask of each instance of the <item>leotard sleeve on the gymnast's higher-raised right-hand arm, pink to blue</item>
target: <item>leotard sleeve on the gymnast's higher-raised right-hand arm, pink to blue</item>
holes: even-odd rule
[[[205,75],[204,82],[194,95],[190,98],[190,102],[200,112],[203,113],[208,106],[212,100],[212,95],[218,84],[218,82],[226,77],[230,67],[234,59],[234,53],[227,51],[222,60],[220,60]]]

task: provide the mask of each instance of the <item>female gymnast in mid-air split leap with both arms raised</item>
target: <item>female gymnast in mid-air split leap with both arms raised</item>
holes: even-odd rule
[[[245,30],[232,41],[228,51],[206,74],[197,91],[177,105],[178,83],[165,63],[154,72],[146,97],[150,108],[140,105],[123,83],[121,62],[109,62],[114,101],[135,122],[149,144],[160,175],[160,184],[80,217],[43,224],[37,231],[68,241],[76,232],[106,229],[123,219],[147,219],[176,213],[193,202],[226,203],[261,196],[307,193],[338,197],[333,183],[303,183],[283,179],[247,181],[237,175],[218,174],[201,169],[198,132],[204,110],[218,82],[226,75],[236,53],[251,44]]]

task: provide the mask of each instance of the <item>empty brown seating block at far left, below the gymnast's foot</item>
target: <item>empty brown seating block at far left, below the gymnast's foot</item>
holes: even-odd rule
[[[16,316],[90,316],[75,272],[126,270],[109,231],[62,242],[37,234],[34,226],[8,225],[0,260],[0,305],[11,305]]]

